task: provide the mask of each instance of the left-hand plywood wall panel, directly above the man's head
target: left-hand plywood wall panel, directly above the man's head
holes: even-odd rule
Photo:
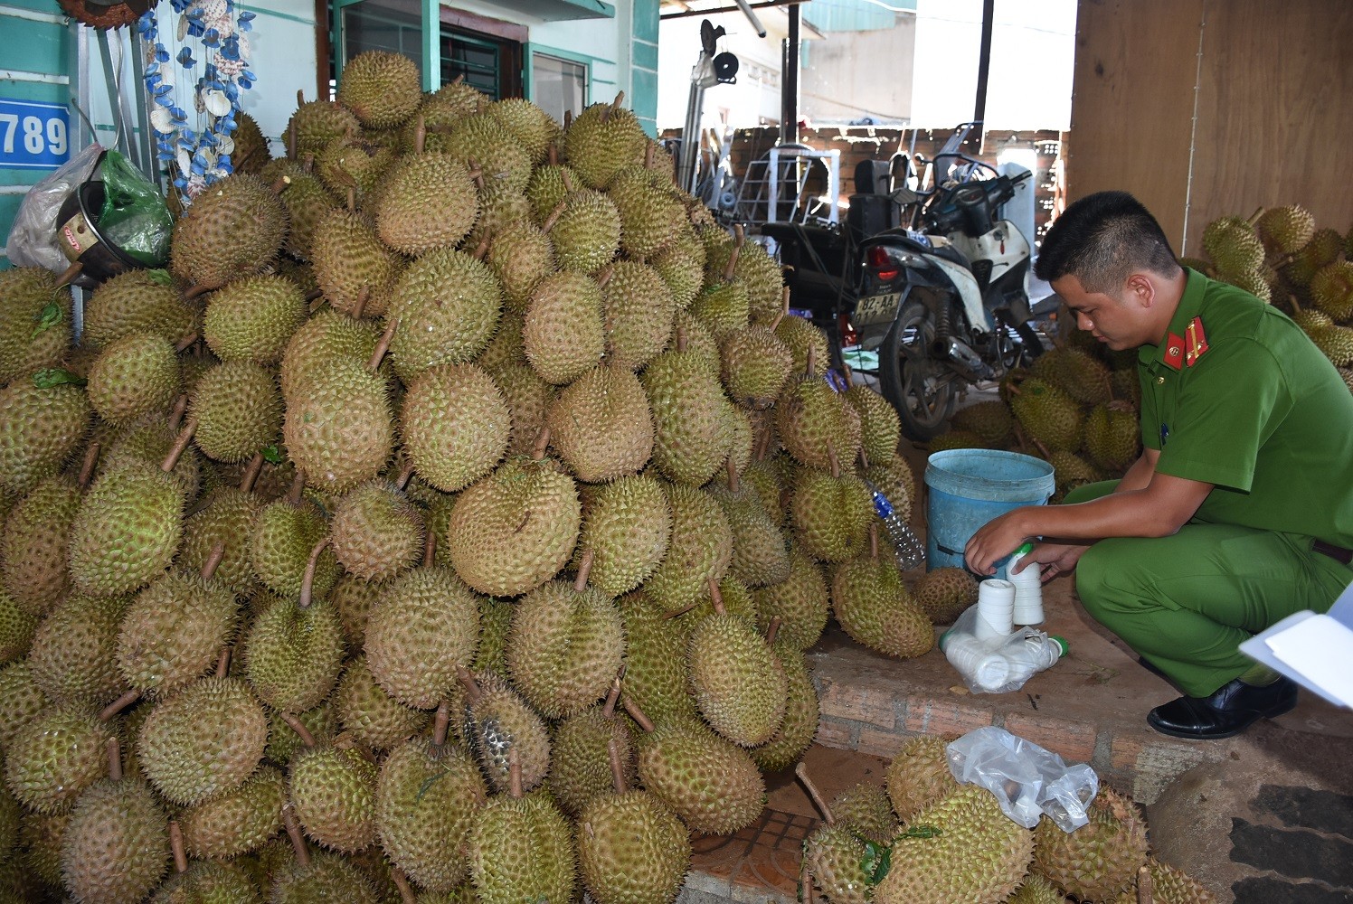
[[[1068,199],[1130,191],[1184,237],[1203,0],[1081,0]]]

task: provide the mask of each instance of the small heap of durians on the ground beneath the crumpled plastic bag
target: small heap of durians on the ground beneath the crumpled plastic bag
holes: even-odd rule
[[[1043,816],[1027,830],[996,797],[954,781],[944,739],[907,742],[885,785],[856,785],[827,804],[805,763],[796,769],[821,811],[804,842],[805,901],[833,904],[1211,904],[1214,896],[1150,853],[1146,820],[1101,786],[1073,832]]]

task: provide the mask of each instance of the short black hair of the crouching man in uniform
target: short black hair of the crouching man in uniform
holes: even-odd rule
[[[1070,204],[1053,221],[1034,267],[1049,283],[1074,276],[1086,292],[1115,292],[1138,269],[1174,276],[1180,264],[1161,225],[1126,191]]]

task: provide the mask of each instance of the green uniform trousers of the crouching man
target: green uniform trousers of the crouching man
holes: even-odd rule
[[[1089,483],[1065,502],[1116,486]],[[1293,612],[1327,612],[1350,582],[1353,568],[1311,537],[1192,521],[1170,537],[1100,540],[1076,567],[1085,610],[1191,697],[1254,664],[1241,643]]]

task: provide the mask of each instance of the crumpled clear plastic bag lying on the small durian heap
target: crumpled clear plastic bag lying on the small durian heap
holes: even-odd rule
[[[1089,821],[1099,775],[1086,763],[1068,766],[1057,754],[988,725],[944,748],[948,770],[962,785],[981,785],[1001,811],[1024,828],[1049,816],[1063,832]]]

